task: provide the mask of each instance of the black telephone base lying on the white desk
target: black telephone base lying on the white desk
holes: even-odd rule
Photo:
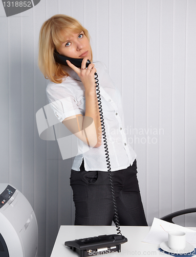
[[[104,253],[120,252],[121,244],[126,243],[123,235],[99,235],[88,238],[67,241],[64,245],[76,251],[80,257],[99,255]]]

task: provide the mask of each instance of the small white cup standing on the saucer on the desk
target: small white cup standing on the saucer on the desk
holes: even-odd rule
[[[169,231],[168,245],[172,250],[183,250],[186,247],[186,233],[178,230]]]

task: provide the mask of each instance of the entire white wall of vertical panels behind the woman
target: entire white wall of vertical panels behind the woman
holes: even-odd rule
[[[196,204],[195,12],[194,0],[41,0],[12,17],[1,6],[0,182],[17,187],[33,206],[39,257],[50,256],[60,225],[74,224],[74,158],[62,160],[56,141],[39,138],[35,121],[48,103],[48,81],[37,65],[42,23],[61,13],[89,30],[94,60],[105,63],[121,92],[151,225],[155,216]],[[189,214],[175,222],[194,220]]]

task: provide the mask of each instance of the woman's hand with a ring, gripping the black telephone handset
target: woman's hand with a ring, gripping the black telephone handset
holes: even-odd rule
[[[86,69],[86,62],[89,57],[85,57],[82,60],[81,69],[73,65],[70,61],[67,60],[67,64],[72,68],[79,78],[81,79],[82,84],[84,85],[85,90],[91,91],[95,90],[95,72],[97,71],[94,63],[90,63]]]

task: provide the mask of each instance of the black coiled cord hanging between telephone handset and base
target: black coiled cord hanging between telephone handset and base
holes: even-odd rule
[[[114,183],[113,183],[113,179],[112,179],[112,173],[111,173],[111,164],[110,164],[110,157],[108,154],[108,148],[107,148],[107,139],[106,139],[106,135],[105,135],[105,125],[104,125],[104,119],[103,119],[103,110],[102,110],[102,106],[101,106],[101,97],[100,97],[100,90],[99,90],[99,80],[98,80],[98,75],[95,72],[95,83],[96,83],[96,91],[97,91],[97,99],[98,99],[98,105],[99,105],[99,113],[100,113],[100,119],[101,119],[101,129],[102,129],[102,135],[103,135],[103,142],[104,142],[104,149],[105,149],[105,158],[106,158],[106,162],[107,162],[107,169],[108,169],[108,177],[110,180],[110,185],[111,185],[111,189],[112,189],[112,198],[113,198],[113,203],[114,203],[114,217],[115,217],[115,225],[116,225],[116,230],[118,231],[117,234],[121,234],[120,231],[120,226],[119,226],[119,219],[118,219],[118,210],[117,210],[117,206],[116,206],[116,197],[115,197],[115,191],[114,191]]]

